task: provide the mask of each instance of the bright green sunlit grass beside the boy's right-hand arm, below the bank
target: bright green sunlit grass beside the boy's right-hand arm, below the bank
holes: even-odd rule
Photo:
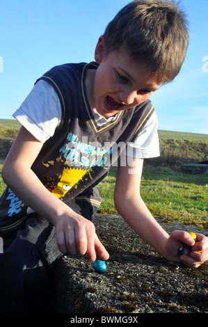
[[[99,213],[117,214],[113,203],[113,186],[117,168],[99,184],[102,205]],[[171,168],[145,166],[141,196],[153,216],[173,223],[195,224],[208,228],[208,177],[179,173]]]

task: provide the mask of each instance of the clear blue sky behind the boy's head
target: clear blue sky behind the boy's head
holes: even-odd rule
[[[152,96],[159,129],[208,134],[208,0],[182,0],[190,43],[181,72]],[[0,118],[10,119],[54,65],[93,61],[127,0],[0,0]]]

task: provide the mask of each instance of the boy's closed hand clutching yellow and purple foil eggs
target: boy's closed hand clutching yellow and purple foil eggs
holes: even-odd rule
[[[203,234],[196,234],[197,241],[189,232],[175,230],[170,234],[166,243],[167,258],[170,261],[183,262],[186,266],[197,268],[208,260],[208,238]],[[189,255],[179,255],[178,249],[183,245],[191,246]]]

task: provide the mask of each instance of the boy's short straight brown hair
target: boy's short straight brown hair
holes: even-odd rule
[[[150,67],[158,83],[173,81],[189,44],[188,23],[174,1],[135,0],[106,27],[105,54],[127,51]]]

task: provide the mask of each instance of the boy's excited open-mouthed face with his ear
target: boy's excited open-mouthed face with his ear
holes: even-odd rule
[[[95,49],[95,61],[99,67],[88,99],[92,109],[105,118],[141,104],[159,89],[147,67],[132,61],[127,53],[113,51],[105,56],[102,37]]]

